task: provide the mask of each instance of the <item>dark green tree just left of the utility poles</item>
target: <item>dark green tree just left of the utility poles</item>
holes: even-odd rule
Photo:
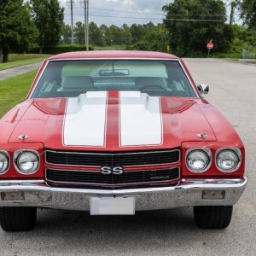
[[[58,0],[30,0],[33,20],[38,27],[40,51],[54,49],[61,38],[64,8]]]

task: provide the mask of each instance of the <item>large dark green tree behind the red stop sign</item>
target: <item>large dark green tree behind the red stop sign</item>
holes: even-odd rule
[[[227,52],[230,49],[234,34],[232,26],[225,24],[223,1],[175,0],[173,3],[166,4],[163,10],[167,14],[164,25],[169,31],[169,42],[175,54],[204,54],[207,52],[206,46],[210,40],[218,52]]]

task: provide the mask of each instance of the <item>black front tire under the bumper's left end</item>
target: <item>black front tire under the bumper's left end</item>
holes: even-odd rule
[[[0,224],[5,231],[32,230],[37,222],[37,208],[34,207],[2,207],[0,208]]]

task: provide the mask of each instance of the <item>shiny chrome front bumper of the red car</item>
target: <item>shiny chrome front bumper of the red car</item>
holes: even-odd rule
[[[90,197],[134,195],[136,211],[193,206],[231,206],[247,185],[244,179],[187,179],[174,187],[148,189],[65,189],[47,186],[44,181],[1,181],[0,207],[43,207],[90,211]],[[224,199],[205,200],[206,190],[223,190]],[[4,192],[22,192],[24,200],[5,201]],[[24,193],[23,193],[24,192]]]

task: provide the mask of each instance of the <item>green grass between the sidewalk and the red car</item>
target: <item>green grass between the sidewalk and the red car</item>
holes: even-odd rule
[[[32,71],[0,81],[0,118],[26,98],[36,73],[37,71]]]

